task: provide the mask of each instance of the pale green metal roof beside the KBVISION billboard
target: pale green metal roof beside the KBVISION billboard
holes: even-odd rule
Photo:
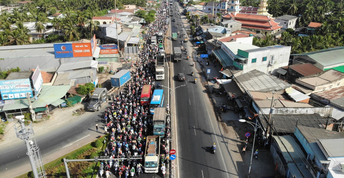
[[[65,96],[67,91],[71,88],[70,85],[64,86],[42,86],[42,90],[40,92],[40,96],[37,100],[32,102],[33,108],[41,108],[45,107],[47,104],[51,104],[56,100]]]

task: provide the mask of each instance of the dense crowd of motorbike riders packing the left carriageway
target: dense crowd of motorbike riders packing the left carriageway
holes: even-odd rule
[[[166,3],[161,3],[157,13],[157,20],[153,22],[146,43],[140,52],[140,58],[134,64],[136,73],[133,83],[128,85],[127,91],[121,91],[114,98],[111,106],[104,112],[105,133],[110,133],[107,146],[103,156],[114,158],[113,160],[101,162],[99,175],[103,174],[108,178],[111,172],[119,177],[134,177],[143,173],[143,159],[115,160],[116,158],[127,158],[130,156],[144,154],[146,137],[153,128],[152,116],[150,116],[147,106],[140,104],[140,94],[143,85],[155,85],[155,56],[158,54],[158,47],[150,44],[150,36],[154,36],[159,30],[166,32],[167,26],[164,23],[165,17],[162,9],[166,8]],[[163,43],[163,42],[162,42]],[[111,101],[110,101],[111,102]],[[166,112],[169,115],[169,107]],[[165,139],[162,140],[161,170],[166,174],[165,164],[169,163],[169,147],[171,123],[168,117],[165,127]]]

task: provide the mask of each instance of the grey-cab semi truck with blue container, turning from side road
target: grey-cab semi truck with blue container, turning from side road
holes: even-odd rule
[[[118,94],[125,84],[131,79],[129,70],[120,70],[115,75],[111,76],[111,89],[96,88],[88,103],[87,109],[90,111],[99,111],[108,100],[112,100]]]

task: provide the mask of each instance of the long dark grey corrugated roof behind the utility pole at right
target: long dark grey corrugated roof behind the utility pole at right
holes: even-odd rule
[[[271,102],[270,102],[271,103]],[[269,115],[260,116],[260,123],[263,130],[266,130],[267,118]],[[271,124],[273,121],[273,130],[276,133],[294,133],[297,125],[314,127],[323,129],[326,125],[327,119],[323,119],[320,114],[273,114]],[[332,124],[333,121],[328,120],[327,124]]]

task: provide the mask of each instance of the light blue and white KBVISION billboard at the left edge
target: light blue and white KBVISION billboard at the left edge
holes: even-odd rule
[[[32,97],[30,79],[2,80],[0,93],[3,100],[26,98],[26,93]]]

